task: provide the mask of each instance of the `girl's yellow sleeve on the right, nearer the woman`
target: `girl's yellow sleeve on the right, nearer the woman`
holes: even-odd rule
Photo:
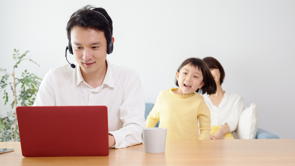
[[[211,130],[210,109],[206,105],[204,98],[198,108],[198,119],[201,130],[199,139],[209,139]]]

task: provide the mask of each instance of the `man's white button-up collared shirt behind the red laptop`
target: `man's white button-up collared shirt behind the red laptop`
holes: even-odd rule
[[[33,106],[96,106],[108,108],[109,133],[115,148],[142,143],[145,127],[145,102],[140,76],[125,66],[107,62],[101,86],[89,86],[81,75],[80,66],[69,64],[50,69],[42,80]]]

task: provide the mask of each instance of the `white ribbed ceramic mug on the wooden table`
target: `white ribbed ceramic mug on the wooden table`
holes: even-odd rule
[[[151,127],[142,129],[142,140],[146,153],[164,153],[167,128]]]

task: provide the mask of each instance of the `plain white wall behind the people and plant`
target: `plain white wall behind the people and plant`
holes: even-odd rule
[[[19,65],[17,76],[27,69],[43,78],[66,64],[66,23],[86,4],[105,8],[113,19],[114,52],[108,59],[140,73],[146,102],[176,87],[183,60],[212,56],[224,67],[223,89],[242,95],[246,106],[256,103],[259,127],[295,140],[295,1],[2,0],[0,68],[12,72],[14,48],[30,50],[40,64]],[[2,93],[0,114],[6,114],[11,108],[3,106]]]

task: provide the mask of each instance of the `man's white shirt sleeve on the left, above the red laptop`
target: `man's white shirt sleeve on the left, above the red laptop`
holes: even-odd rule
[[[33,106],[55,106],[54,84],[51,71],[42,80]]]

